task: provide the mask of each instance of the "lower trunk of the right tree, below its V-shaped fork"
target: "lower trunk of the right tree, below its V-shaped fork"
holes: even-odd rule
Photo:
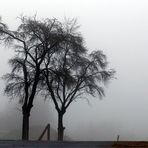
[[[63,114],[58,114],[58,141],[63,141],[64,138]]]

